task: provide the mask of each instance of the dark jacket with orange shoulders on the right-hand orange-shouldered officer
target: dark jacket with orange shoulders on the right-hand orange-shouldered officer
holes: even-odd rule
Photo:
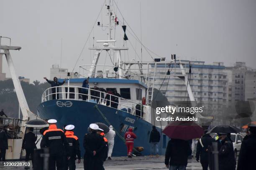
[[[67,152],[69,153],[69,156],[72,158],[77,158],[80,160],[81,159],[81,150],[80,150],[80,145],[79,145],[79,140],[77,136],[74,135],[73,131],[67,130],[65,132],[67,142],[69,144]]]

